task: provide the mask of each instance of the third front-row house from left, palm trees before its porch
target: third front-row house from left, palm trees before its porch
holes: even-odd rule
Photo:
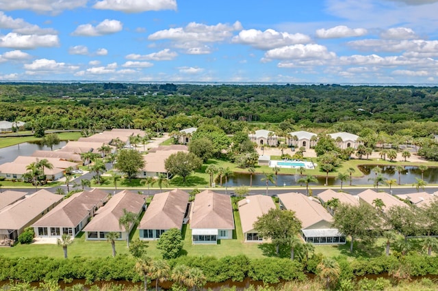
[[[99,208],[90,223],[83,228],[86,240],[106,240],[108,232],[118,232],[118,240],[126,240],[124,227],[120,227],[118,220],[123,216],[123,209],[140,215],[144,206],[143,195],[123,190],[113,195],[105,206]],[[133,224],[129,227],[131,232]]]

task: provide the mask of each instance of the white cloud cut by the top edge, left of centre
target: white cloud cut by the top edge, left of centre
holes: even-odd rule
[[[145,11],[177,10],[176,0],[101,0],[93,5],[95,9],[116,10],[126,13]]]

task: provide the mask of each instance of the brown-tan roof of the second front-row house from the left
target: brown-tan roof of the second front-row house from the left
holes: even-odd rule
[[[75,193],[41,217],[32,226],[76,227],[90,215],[94,206],[102,204],[109,194],[100,189]]]

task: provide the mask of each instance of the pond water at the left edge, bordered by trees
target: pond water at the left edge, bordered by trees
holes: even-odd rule
[[[61,141],[53,146],[53,150],[58,150],[66,145],[67,141]],[[48,146],[43,146],[39,142],[20,143],[15,146],[0,148],[0,165],[9,163],[16,159],[17,156],[31,156],[36,150],[50,150]]]

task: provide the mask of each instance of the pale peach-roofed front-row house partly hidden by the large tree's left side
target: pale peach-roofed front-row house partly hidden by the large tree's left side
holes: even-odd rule
[[[263,214],[266,214],[271,209],[275,209],[272,197],[266,195],[249,195],[245,199],[240,200],[237,206],[239,207],[240,223],[242,232],[244,233],[245,243],[266,243],[254,230],[254,223]]]

